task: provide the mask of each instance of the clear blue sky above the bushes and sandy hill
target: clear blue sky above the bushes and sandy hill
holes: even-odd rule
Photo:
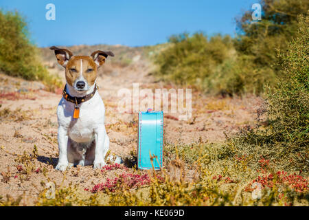
[[[164,43],[168,36],[203,31],[234,36],[234,18],[258,0],[1,0],[0,8],[26,18],[32,41],[51,45]],[[54,3],[56,21],[47,21],[45,5]]]

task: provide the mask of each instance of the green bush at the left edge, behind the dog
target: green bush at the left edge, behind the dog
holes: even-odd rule
[[[43,80],[47,70],[28,39],[27,23],[18,12],[0,10],[0,70],[26,80]]]

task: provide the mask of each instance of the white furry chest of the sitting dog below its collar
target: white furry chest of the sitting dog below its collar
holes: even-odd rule
[[[80,105],[78,119],[72,117],[74,104],[67,100],[60,100],[57,109],[58,123],[67,129],[67,135],[74,142],[91,142],[94,131],[100,124],[104,124],[105,108],[98,93],[87,102]]]

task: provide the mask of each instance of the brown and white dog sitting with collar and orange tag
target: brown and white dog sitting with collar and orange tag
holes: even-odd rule
[[[65,67],[66,85],[57,107],[59,161],[56,170],[73,165],[102,168],[109,147],[105,107],[96,78],[98,69],[113,52],[97,50],[91,56],[73,56],[67,49],[52,46],[57,61]],[[117,157],[115,162],[120,163]]]

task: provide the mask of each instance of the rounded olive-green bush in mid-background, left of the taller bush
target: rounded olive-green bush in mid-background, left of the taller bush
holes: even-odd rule
[[[165,80],[200,87],[232,48],[229,36],[217,35],[208,40],[203,33],[174,35],[169,43],[155,58],[159,65],[158,74]]]

